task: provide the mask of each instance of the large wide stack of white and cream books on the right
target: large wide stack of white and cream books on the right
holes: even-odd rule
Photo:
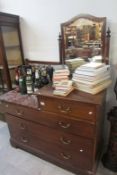
[[[97,94],[111,84],[110,66],[104,63],[90,62],[77,68],[73,74],[76,89]]]

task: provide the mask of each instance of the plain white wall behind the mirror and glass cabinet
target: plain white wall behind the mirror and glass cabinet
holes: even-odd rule
[[[116,0],[1,0],[0,11],[21,17],[21,32],[25,58],[59,61],[58,34],[60,23],[80,13],[106,16],[111,28],[110,64],[113,84],[107,103],[115,103],[113,86],[117,64],[117,1]]]

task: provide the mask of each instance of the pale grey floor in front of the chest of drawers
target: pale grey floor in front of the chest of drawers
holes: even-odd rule
[[[74,175],[9,143],[7,124],[0,121],[0,175]],[[100,163],[96,175],[117,175]]]

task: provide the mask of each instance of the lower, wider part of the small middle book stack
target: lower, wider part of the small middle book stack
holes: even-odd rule
[[[60,96],[67,96],[74,89],[72,86],[72,80],[60,81],[54,88],[53,94]]]

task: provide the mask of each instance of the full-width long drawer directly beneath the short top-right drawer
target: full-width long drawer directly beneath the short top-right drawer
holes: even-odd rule
[[[5,104],[8,114],[18,116],[45,126],[49,126],[66,133],[72,133],[87,138],[95,137],[95,125],[80,121],[78,119],[70,119],[59,114],[42,112],[31,108],[25,108],[20,105]]]

